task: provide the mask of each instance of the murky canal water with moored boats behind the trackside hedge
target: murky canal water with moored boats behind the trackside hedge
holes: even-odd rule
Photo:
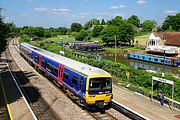
[[[80,54],[83,56],[91,56],[96,59],[106,59],[114,62],[119,62],[122,64],[125,64],[127,66],[133,66],[137,69],[144,69],[144,70],[153,70],[157,72],[162,72],[164,69],[164,66],[161,64],[155,64],[151,62],[144,62],[134,59],[128,59],[128,53],[124,52],[123,50],[118,50],[118,52],[111,52],[111,51],[105,51],[105,52],[80,52],[76,51],[76,54]],[[98,57],[97,57],[98,55]],[[180,68],[178,67],[172,67],[172,66],[165,66],[165,72],[169,72],[174,74],[175,76],[180,77]]]

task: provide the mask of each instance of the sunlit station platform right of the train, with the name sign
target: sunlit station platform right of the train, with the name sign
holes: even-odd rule
[[[180,110],[113,85],[113,99],[151,120],[180,120]]]

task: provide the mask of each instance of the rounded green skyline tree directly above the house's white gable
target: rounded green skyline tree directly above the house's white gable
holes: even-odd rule
[[[150,32],[153,29],[153,21],[145,20],[142,24],[143,31]]]

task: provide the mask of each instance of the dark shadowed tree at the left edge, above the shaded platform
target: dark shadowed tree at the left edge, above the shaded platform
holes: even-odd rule
[[[2,8],[0,8],[0,53],[5,50],[5,47],[7,45],[6,36],[9,32],[7,25],[3,22],[1,10]]]

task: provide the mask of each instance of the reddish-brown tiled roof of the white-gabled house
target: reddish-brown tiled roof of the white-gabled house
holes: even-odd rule
[[[154,35],[165,40],[165,45],[180,46],[180,32],[158,32]]]

